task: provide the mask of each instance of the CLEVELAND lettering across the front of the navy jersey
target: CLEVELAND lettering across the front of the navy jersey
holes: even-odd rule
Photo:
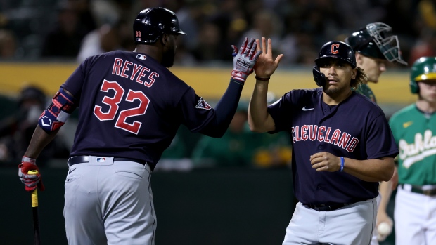
[[[301,140],[318,140],[319,142],[331,143],[338,145],[347,152],[353,152],[356,149],[359,140],[351,137],[349,133],[341,132],[339,129],[332,131],[331,127],[318,125],[302,125],[292,127],[293,142]]]

